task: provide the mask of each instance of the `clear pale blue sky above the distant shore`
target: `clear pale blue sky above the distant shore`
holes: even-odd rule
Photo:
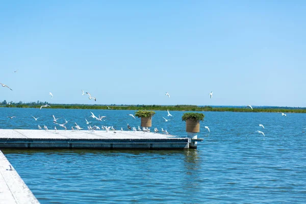
[[[0,87],[0,100],[306,107],[305,11],[282,0],[3,1],[0,83],[13,91]]]

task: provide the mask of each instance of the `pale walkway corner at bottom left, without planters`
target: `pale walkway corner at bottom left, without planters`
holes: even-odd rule
[[[39,203],[14,167],[0,151],[0,204]]]

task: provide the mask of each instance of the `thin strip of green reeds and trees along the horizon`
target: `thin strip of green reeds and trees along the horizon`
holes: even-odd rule
[[[96,109],[96,110],[151,110],[151,111],[215,111],[215,112],[286,112],[286,113],[306,113],[306,108],[292,108],[292,107],[253,107],[253,110],[247,107],[199,107],[192,105],[176,105],[176,106],[159,106],[159,105],[121,105],[121,106],[103,106],[103,105],[52,105],[51,109]],[[1,107],[7,108],[40,108],[40,105],[6,105]],[[44,108],[46,109],[46,108]]]

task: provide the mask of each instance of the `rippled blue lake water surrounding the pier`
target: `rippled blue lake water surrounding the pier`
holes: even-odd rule
[[[52,115],[71,119],[70,128],[86,129],[85,118],[124,130],[140,124],[126,115],[135,111],[92,110],[107,116],[101,122],[89,111],[0,108],[0,129],[54,129]],[[152,127],[184,137],[184,112],[170,113],[165,122],[167,112],[156,111]],[[203,114],[196,150],[2,150],[41,203],[306,202],[306,114]]]

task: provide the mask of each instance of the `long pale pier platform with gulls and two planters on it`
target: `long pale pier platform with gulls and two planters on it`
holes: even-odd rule
[[[1,148],[185,149],[190,138],[142,131],[0,129]]]

